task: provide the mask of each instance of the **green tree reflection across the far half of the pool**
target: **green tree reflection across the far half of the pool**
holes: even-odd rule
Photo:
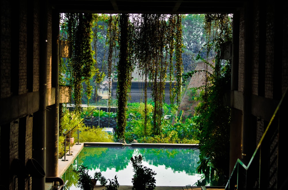
[[[165,165],[174,172],[185,171],[189,175],[196,173],[199,161],[199,150],[192,149],[84,147],[74,163],[85,165],[93,170],[98,168],[101,171],[115,168],[118,172],[128,166],[132,156],[138,154],[143,156],[143,161],[151,165]]]

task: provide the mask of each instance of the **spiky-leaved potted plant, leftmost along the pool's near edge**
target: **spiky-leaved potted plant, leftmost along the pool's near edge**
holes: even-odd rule
[[[86,166],[80,165],[77,168],[74,168],[73,171],[78,175],[78,187],[82,190],[94,189],[96,182],[95,180],[92,180],[92,177],[88,174],[89,170]]]

